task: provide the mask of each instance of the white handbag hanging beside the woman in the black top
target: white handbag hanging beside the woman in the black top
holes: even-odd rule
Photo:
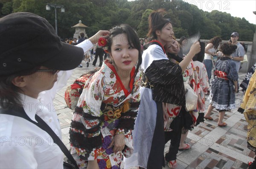
[[[186,111],[195,110],[197,108],[198,96],[195,91],[190,87],[188,82],[184,82],[185,98],[186,98]]]

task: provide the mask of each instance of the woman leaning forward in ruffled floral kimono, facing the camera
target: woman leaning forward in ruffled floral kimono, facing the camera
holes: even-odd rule
[[[102,39],[104,41],[104,39]],[[117,169],[133,152],[140,104],[140,40],[129,25],[110,31],[111,60],[87,80],[73,115],[70,147],[80,168]]]

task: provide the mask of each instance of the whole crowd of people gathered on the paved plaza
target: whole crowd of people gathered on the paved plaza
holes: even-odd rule
[[[213,108],[219,112],[218,127],[226,127],[223,117],[236,108],[238,71],[245,53],[239,34],[232,33],[230,43],[221,43],[220,37],[206,46],[194,42],[185,55],[189,39],[177,42],[164,14],[163,9],[151,12],[147,38],[140,39],[131,26],[122,24],[89,39],[81,33],[79,39],[65,42],[36,14],[1,18],[0,38],[6,41],[1,41],[0,51],[0,168],[64,167],[63,147],[56,146],[48,132],[61,140],[53,99],[72,70],[82,67],[83,59],[88,67],[94,52],[92,65],[99,56],[99,68],[76,79],[65,93],[67,106],[74,110],[67,157],[76,168],[118,169],[125,157],[125,168],[161,169],[167,161],[175,169],[177,152],[191,148],[186,143],[189,130],[204,119],[213,120]],[[8,41],[20,34],[28,36]],[[250,124],[248,147],[253,151],[255,74],[254,80],[244,81],[248,87],[239,109]],[[136,138],[142,138],[143,145],[133,145]],[[256,161],[249,167],[255,165]]]

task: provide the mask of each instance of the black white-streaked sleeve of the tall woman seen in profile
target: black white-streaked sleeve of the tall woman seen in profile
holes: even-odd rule
[[[185,106],[185,89],[182,69],[169,59],[154,60],[145,75],[153,85],[154,101]]]

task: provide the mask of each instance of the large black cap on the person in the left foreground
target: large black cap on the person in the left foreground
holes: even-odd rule
[[[0,18],[0,75],[38,66],[71,70],[82,61],[84,51],[61,42],[46,19],[28,12]]]

